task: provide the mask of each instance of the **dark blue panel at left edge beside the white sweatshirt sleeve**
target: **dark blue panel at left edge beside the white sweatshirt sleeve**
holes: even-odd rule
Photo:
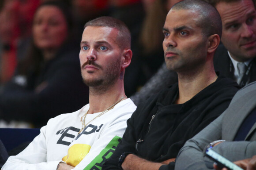
[[[40,129],[22,129],[22,128],[0,128],[0,139],[3,142],[7,152],[17,146],[33,141],[40,133]]]

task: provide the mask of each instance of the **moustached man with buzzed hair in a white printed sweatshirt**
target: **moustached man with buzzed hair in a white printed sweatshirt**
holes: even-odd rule
[[[100,17],[87,22],[80,47],[89,104],[50,119],[2,170],[100,170],[114,152],[126,120],[136,109],[124,93],[124,71],[132,59],[131,35],[120,20]]]

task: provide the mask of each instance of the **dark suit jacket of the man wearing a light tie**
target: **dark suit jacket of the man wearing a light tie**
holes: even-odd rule
[[[222,76],[229,77],[234,80],[234,74],[233,72],[230,72],[230,62],[232,64],[232,61],[230,60],[228,51],[226,50],[222,43],[218,46],[213,61],[215,71],[218,71]],[[252,68],[250,70],[250,77],[248,83],[256,81],[256,58],[254,58],[252,62],[253,63]],[[232,67],[234,70],[233,64]]]

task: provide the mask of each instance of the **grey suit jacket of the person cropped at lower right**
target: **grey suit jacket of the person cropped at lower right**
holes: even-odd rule
[[[255,94],[256,82],[239,90],[228,109],[181,148],[175,170],[212,168],[213,162],[203,157],[203,150],[210,143],[214,151],[230,161],[250,159],[256,155]]]

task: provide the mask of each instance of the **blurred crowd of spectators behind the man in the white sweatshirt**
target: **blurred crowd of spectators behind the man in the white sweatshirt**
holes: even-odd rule
[[[41,127],[88,103],[79,66],[84,24],[119,18],[132,33],[128,97],[164,62],[162,25],[170,0],[3,0],[0,2],[0,127]],[[55,7],[47,7],[47,3]]]

